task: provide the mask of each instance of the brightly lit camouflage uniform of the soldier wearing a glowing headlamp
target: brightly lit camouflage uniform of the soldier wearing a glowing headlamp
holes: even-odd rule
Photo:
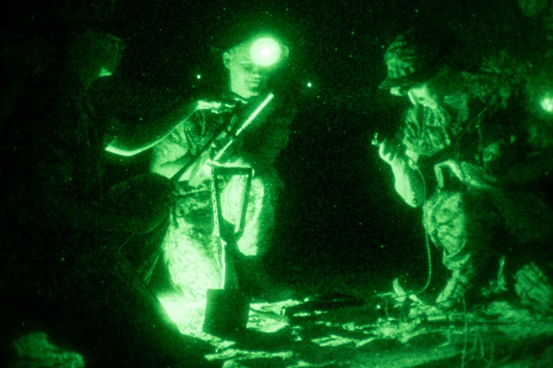
[[[189,151],[196,154],[215,134],[222,119],[221,115],[211,112],[196,112],[155,146],[154,157],[173,161]],[[273,154],[278,154],[284,148],[288,140],[290,121],[273,119],[262,122],[265,127],[269,127],[270,134],[256,137],[256,132],[249,130],[255,130],[254,124],[261,125],[257,123],[254,122],[252,127],[244,130],[244,139],[233,145],[233,151],[227,157],[225,165],[253,166],[255,169],[249,192],[246,224],[243,235],[238,240],[238,247],[243,255],[258,261],[271,240],[276,195],[281,186],[272,167],[275,156],[263,155],[271,150],[274,151]],[[247,147],[245,140],[253,141],[252,149]],[[192,182],[196,184],[191,185]],[[225,183],[221,194],[225,217],[241,211],[236,197],[242,192],[243,185],[239,177],[232,177]],[[215,230],[210,176],[200,171],[190,181],[179,183],[178,201],[163,245],[164,260],[171,279],[190,301],[202,300],[207,289],[221,287],[221,240],[216,236]]]

